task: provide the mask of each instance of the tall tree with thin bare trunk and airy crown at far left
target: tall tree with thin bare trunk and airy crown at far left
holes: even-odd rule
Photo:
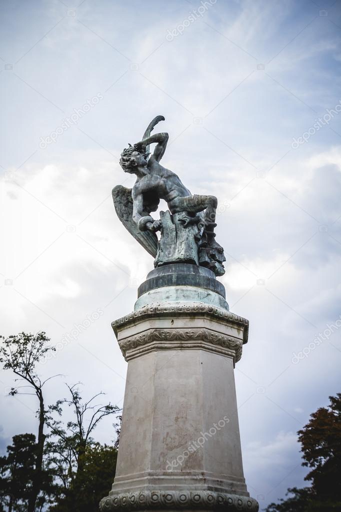
[[[17,380],[24,380],[27,382],[25,386],[13,387],[10,395],[14,396],[20,394],[33,394],[36,395],[39,401],[38,410],[38,439],[35,447],[35,467],[32,475],[32,486],[28,498],[27,512],[34,512],[36,508],[37,498],[42,486],[42,466],[43,466],[43,452],[44,442],[46,435],[44,434],[44,425],[46,423],[46,411],[44,409],[44,399],[42,388],[50,378],[40,380],[36,373],[36,364],[41,360],[44,355],[55,348],[48,346],[50,338],[46,333],[41,331],[37,334],[26,334],[21,332],[16,336],[9,336],[5,338],[0,336],[3,340],[3,345],[0,348],[0,362],[2,362],[5,370],[12,370],[17,375]],[[22,393],[19,390],[29,388],[31,392]]]

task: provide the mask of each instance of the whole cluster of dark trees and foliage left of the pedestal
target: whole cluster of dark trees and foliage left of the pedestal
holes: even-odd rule
[[[53,377],[42,381],[36,365],[55,350],[49,338],[21,332],[0,340],[3,368],[23,382],[10,395],[33,394],[39,403],[37,438],[14,436],[7,456],[0,457],[0,512],[98,512],[115,476],[117,449],[95,442],[92,434],[105,416],[120,410],[95,403],[103,393],[84,402],[77,386],[67,386],[70,398],[45,408],[42,387]]]

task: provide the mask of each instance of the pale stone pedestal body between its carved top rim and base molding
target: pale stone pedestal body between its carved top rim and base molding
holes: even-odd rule
[[[180,486],[248,496],[233,375],[242,331],[233,322],[218,325],[199,315],[174,318],[173,324],[160,315],[121,324],[118,340],[128,374],[112,494]],[[223,428],[177,464],[191,442],[219,421]]]

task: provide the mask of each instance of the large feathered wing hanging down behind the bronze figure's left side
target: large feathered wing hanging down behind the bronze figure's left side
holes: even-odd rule
[[[131,188],[117,185],[112,189],[112,199],[116,213],[124,227],[129,231],[135,240],[146,249],[153,258],[157,252],[157,236],[152,231],[140,231],[137,224],[132,220],[132,197]],[[143,212],[143,215],[149,215]]]

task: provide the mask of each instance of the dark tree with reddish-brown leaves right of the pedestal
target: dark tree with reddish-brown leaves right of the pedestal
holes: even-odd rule
[[[330,396],[298,432],[303,466],[311,468],[305,480],[311,487],[288,489],[293,496],[271,503],[266,512],[341,511],[341,393]]]

